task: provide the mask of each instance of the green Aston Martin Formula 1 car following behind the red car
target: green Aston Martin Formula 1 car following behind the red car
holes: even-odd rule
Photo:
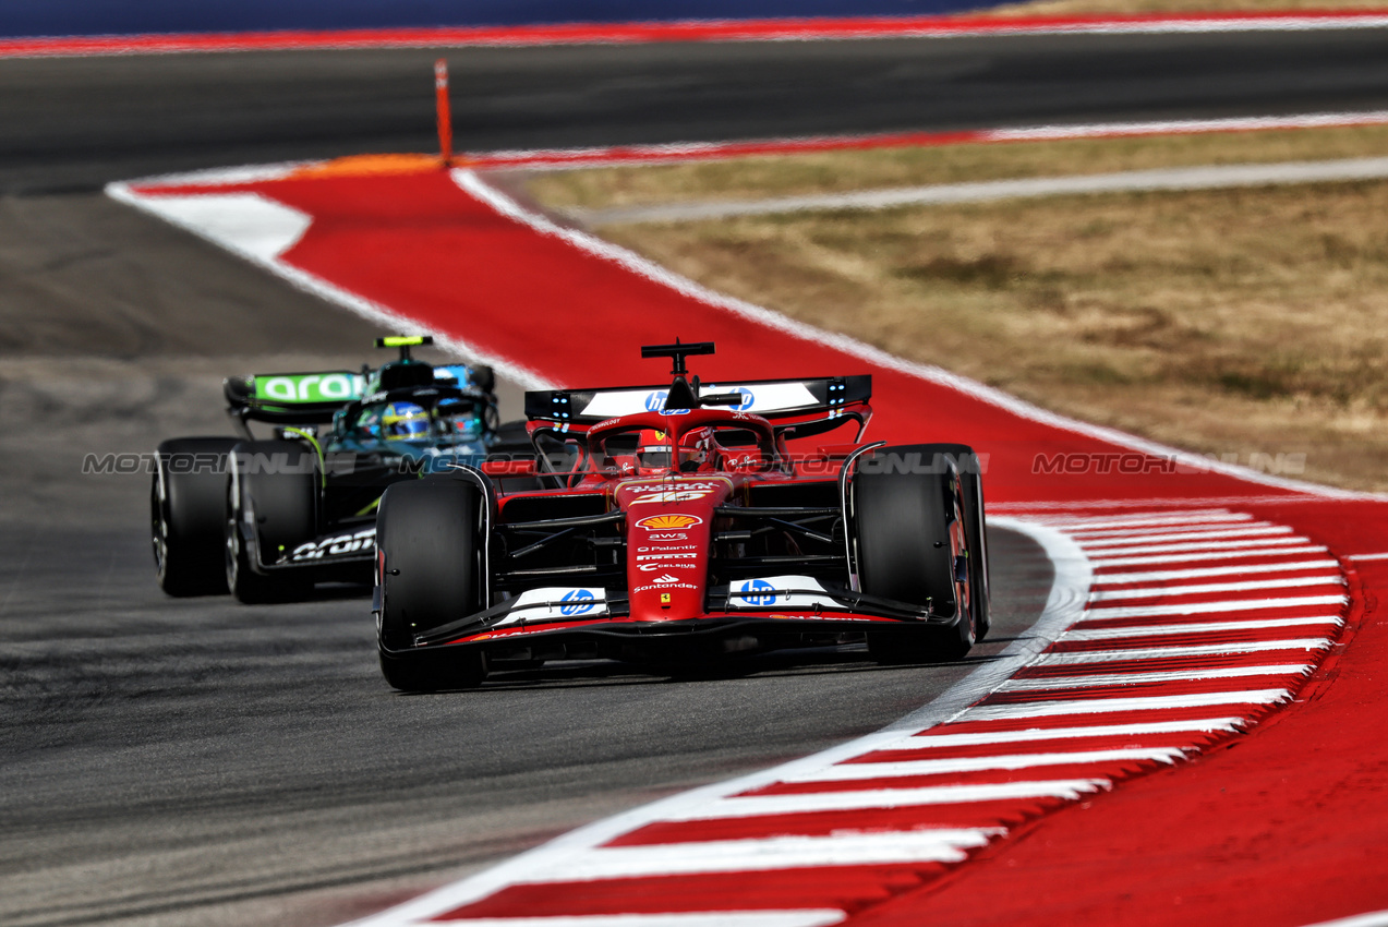
[[[400,357],[375,369],[228,377],[240,437],[158,447],[150,526],[164,591],[269,602],[318,581],[369,583],[387,486],[529,447],[523,425],[498,426],[490,368],[411,357],[426,344],[379,339]]]

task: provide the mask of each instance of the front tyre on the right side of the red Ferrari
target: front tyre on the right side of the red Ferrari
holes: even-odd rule
[[[852,482],[855,555],[863,593],[936,611],[960,608],[967,579],[958,583],[959,556],[967,552],[959,523],[954,466],[913,466],[922,447],[886,447],[859,462]],[[924,470],[924,472],[916,472]],[[867,633],[879,663],[956,661],[974,643],[973,615],[952,626],[894,627]]]

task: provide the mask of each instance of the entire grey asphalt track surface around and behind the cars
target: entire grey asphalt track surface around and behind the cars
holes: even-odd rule
[[[459,139],[491,148],[1381,108],[1384,50],[1369,31],[450,58]],[[866,733],[962,674],[844,651],[733,679],[577,667],[405,698],[353,590],[279,608],[158,593],[144,482],[82,477],[82,455],[219,432],[222,375],[355,362],[375,330],[100,185],[428,150],[433,57],[0,61],[6,923],[332,923]],[[1001,647],[1049,575],[1027,541],[994,544]]]

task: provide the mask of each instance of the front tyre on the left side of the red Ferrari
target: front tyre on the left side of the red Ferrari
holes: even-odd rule
[[[414,637],[482,611],[484,590],[480,490],[450,476],[394,483],[376,512],[380,672],[407,692],[482,683],[473,648],[414,649]]]

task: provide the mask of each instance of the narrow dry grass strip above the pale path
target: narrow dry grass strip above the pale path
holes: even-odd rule
[[[552,208],[594,210],[691,200],[759,200],[965,180],[1384,154],[1388,154],[1388,126],[1357,126],[879,148],[558,171],[532,178],[527,189],[530,196]]]

